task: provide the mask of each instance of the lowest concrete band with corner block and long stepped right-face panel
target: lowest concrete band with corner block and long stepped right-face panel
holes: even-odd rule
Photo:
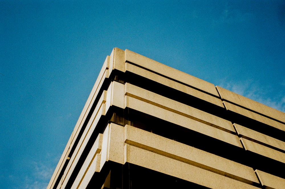
[[[130,162],[210,188],[257,188],[253,185],[259,183],[248,166],[130,125],[111,123],[105,129],[100,169],[109,160]]]

